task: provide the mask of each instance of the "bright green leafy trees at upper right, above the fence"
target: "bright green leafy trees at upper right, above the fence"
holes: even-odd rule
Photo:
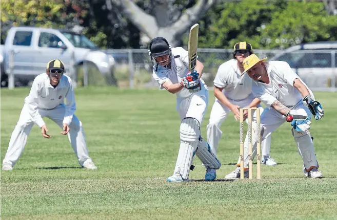
[[[199,35],[199,46],[204,48],[232,48],[236,42],[248,41],[253,48],[283,49],[336,39],[337,16],[327,15],[322,2],[227,2],[211,7],[205,18],[207,31]]]

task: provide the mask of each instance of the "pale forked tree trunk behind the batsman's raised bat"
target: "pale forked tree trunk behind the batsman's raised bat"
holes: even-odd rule
[[[197,23],[214,4],[215,0],[111,0],[123,14],[149,38],[165,37],[174,47],[181,44],[181,37]],[[142,9],[141,6],[146,9]],[[186,8],[186,10],[184,10]]]

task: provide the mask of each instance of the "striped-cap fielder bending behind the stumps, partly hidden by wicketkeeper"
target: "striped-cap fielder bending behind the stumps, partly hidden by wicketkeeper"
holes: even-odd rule
[[[221,124],[228,114],[233,112],[235,120],[240,119],[240,108],[260,107],[261,101],[254,97],[251,91],[252,79],[244,72],[243,60],[253,54],[250,43],[239,42],[234,46],[233,58],[220,65],[214,78],[215,102],[212,107],[209,124],[207,125],[207,142],[216,155],[217,146],[222,136]],[[256,112],[252,111],[253,120],[256,121]],[[248,123],[248,111],[244,112],[244,119]],[[262,164],[276,165],[270,157],[271,136],[262,142]],[[240,163],[237,164],[240,166]]]

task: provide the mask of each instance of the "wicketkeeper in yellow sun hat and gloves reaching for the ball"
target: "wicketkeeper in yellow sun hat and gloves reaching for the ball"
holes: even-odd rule
[[[321,104],[314,100],[307,85],[296,75],[287,62],[259,59],[252,54],[243,61],[245,72],[253,79],[252,92],[267,107],[261,115],[261,138],[266,139],[286,119],[291,122],[291,133],[303,159],[303,172],[309,178],[322,178],[309,133],[311,114],[316,120],[324,116]],[[305,103],[304,103],[305,102]],[[256,123],[253,127],[253,157],[256,155]],[[246,136],[246,140],[248,137]],[[239,158],[240,162],[240,158]],[[248,144],[244,144],[245,177],[248,175]],[[240,168],[226,175],[228,179],[240,177]]]

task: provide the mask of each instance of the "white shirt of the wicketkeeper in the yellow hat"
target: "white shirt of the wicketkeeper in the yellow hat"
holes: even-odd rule
[[[265,64],[269,83],[252,80],[254,96],[259,98],[268,108],[275,100],[279,100],[287,107],[293,107],[303,102],[301,93],[293,87],[294,80],[300,79],[300,77],[292,71],[289,64],[284,61],[269,61],[265,62]],[[308,88],[303,81],[302,83]],[[311,90],[309,92],[314,98]]]

